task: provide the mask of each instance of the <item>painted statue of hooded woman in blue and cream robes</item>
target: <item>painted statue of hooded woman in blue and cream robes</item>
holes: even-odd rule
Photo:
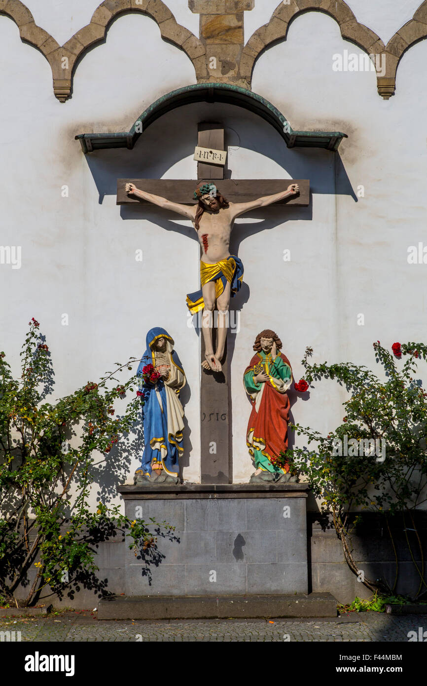
[[[136,376],[144,395],[144,453],[134,482],[179,484],[179,458],[184,452],[184,409],[180,390],[186,378],[173,338],[160,327],[147,333],[147,349]]]

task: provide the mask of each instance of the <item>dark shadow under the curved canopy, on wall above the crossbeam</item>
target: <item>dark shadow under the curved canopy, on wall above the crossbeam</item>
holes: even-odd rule
[[[228,163],[231,168],[225,167],[226,178],[239,178],[232,169],[235,153],[239,149],[252,150],[282,167],[289,178],[309,178],[313,193],[347,195],[357,202],[338,152],[318,148],[289,149],[280,134],[264,119],[243,108],[221,103],[196,103],[167,113],[149,126],[133,150],[117,148],[88,153],[86,161],[97,186],[99,202],[102,203],[106,195],[116,194],[118,178],[162,178],[165,175],[165,178],[174,178],[169,170],[185,158],[193,158],[197,124],[202,121],[223,123],[225,144],[232,153]],[[79,143],[76,141],[75,145]],[[194,172],[186,178],[196,176],[196,163],[192,164]],[[183,178],[179,172],[177,176]],[[245,174],[243,178],[250,177]],[[277,178],[273,165],[271,173],[263,174],[263,178]],[[122,206],[123,219],[136,219],[134,213],[127,215],[130,209]],[[147,218],[146,206],[139,209],[139,213]],[[160,217],[169,214],[159,211]]]

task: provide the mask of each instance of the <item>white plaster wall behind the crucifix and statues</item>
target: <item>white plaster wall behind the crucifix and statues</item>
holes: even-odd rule
[[[398,16],[401,3],[390,4]],[[427,42],[402,59],[388,102],[378,96],[373,72],[332,71],[333,54],[357,49],[319,13],[297,19],[288,40],[256,63],[254,91],[293,128],[349,135],[340,147],[345,184],[339,158],[287,150],[267,123],[225,106],[175,110],[133,151],[85,157],[75,134],[128,130],[160,95],[195,82],[191,62],[160,39],[154,21],[123,16],[106,44],[84,57],[73,98],[60,104],[45,58],[21,43],[16,25],[3,16],[0,31],[1,244],[23,250],[20,270],[0,265],[0,345],[15,372],[32,316],[47,335],[58,396],[97,379],[116,360],[140,355],[147,329],[164,326],[191,389],[184,477],[199,479],[199,339],[184,305],[185,294],[197,288],[198,246],[188,222],[156,209],[121,211],[114,193],[119,176],[194,178],[197,121],[217,116],[225,122],[234,178],[310,178],[313,191],[310,209],[274,207],[236,224],[235,238],[239,231],[244,236],[245,290],[233,304],[241,313],[232,362],[234,480],[252,473],[245,447],[250,406],[241,377],[258,331],[276,329],[296,379],[307,345],[316,361],[372,366],[374,340],[391,345],[425,338],[427,267],[408,265],[407,248],[426,241]],[[69,198],[61,197],[64,184]],[[359,185],[365,198],[355,199],[351,189]],[[142,265],[134,260],[138,248],[145,251]],[[285,249],[290,262],[283,261]],[[61,326],[63,313],[69,327]],[[357,325],[358,314],[365,315],[365,326]],[[327,431],[341,419],[343,397],[334,383],[317,383],[305,401],[294,403],[291,395],[293,418]]]

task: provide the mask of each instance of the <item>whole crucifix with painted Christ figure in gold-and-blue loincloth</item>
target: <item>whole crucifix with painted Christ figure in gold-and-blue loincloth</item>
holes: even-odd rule
[[[230,364],[226,355],[230,297],[241,287],[243,265],[230,255],[234,220],[271,204],[309,204],[308,180],[224,178],[221,124],[200,123],[195,180],[118,179],[117,204],[156,204],[193,222],[201,246],[202,289],[187,295],[192,314],[202,310],[202,482],[231,482]],[[217,307],[216,345],[213,313]],[[212,410],[208,412],[208,410]]]

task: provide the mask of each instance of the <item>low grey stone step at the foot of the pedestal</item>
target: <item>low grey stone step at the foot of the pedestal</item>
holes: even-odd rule
[[[100,600],[98,619],[224,619],[241,617],[337,617],[330,593],[225,595],[176,598],[125,597]]]

